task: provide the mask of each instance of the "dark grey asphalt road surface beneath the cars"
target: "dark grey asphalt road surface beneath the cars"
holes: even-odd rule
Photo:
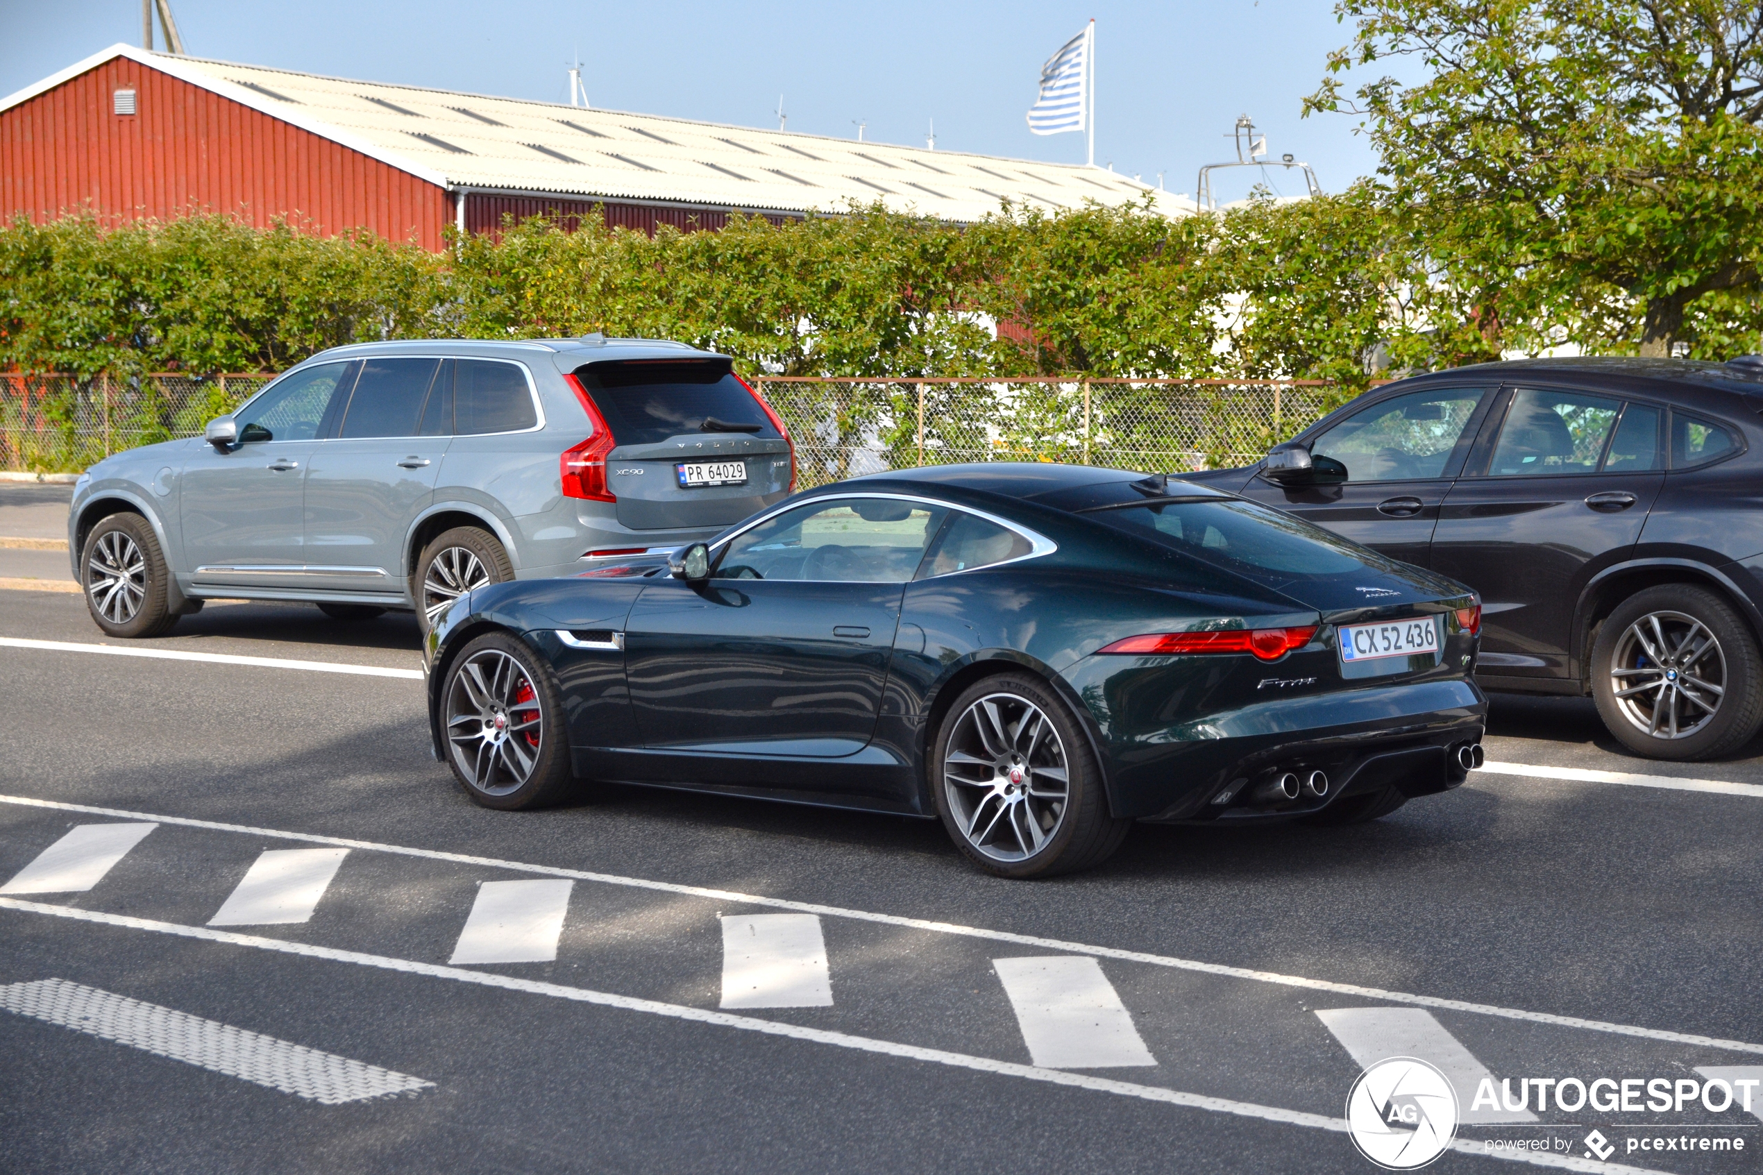
[[[0,592],[5,1171],[1370,1171],[1331,1129],[1361,1068],[1331,1009],[1514,1087],[1763,1066],[1763,745],[1636,761],[1585,701],[1495,699],[1490,759],[1543,775],[1481,772],[1361,828],[1139,826],[1095,872],[1007,883],[927,821],[635,787],[478,809],[409,676],[7,638],[111,643],[78,595]],[[213,604],[146,645],[418,664],[407,617],[298,606]],[[18,888],[88,824],[157,826],[88,890]],[[210,927],[291,849],[340,858],[305,920]],[[451,962],[480,886],[543,879],[573,881],[554,960]],[[830,1004],[725,1011],[748,923],[723,920],[779,914],[816,923],[823,962],[790,974]],[[1047,1013],[1012,999],[1010,958],[1095,960],[1079,1043],[1132,1038],[1141,1064],[1037,1055]],[[330,1105],[287,1076],[314,1053],[275,1041],[404,1092]],[[1490,1140],[1601,1170],[1594,1127],[1613,1163],[1754,1170],[1754,1092],[1756,1113],[1465,1124],[1433,1170],[1507,1170]],[[1625,1150],[1668,1133],[1745,1150]]]

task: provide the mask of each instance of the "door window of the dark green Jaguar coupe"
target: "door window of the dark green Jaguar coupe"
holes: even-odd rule
[[[904,583],[945,513],[897,499],[809,502],[735,537],[710,578]]]

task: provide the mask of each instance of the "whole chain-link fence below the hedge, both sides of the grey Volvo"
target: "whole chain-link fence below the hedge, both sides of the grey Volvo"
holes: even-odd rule
[[[194,437],[268,375],[0,375],[0,469],[81,470]],[[1239,465],[1331,403],[1320,381],[755,381],[790,426],[800,484],[950,462],[1074,462],[1146,472]]]

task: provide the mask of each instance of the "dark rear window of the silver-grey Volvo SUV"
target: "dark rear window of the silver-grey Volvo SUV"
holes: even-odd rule
[[[776,437],[770,418],[726,359],[622,359],[577,370],[617,444],[696,433]]]

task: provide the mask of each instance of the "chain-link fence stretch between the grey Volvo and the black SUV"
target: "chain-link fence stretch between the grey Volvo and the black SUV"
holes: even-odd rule
[[[800,484],[950,462],[1146,472],[1245,465],[1333,403],[1322,381],[755,381],[795,437]]]

